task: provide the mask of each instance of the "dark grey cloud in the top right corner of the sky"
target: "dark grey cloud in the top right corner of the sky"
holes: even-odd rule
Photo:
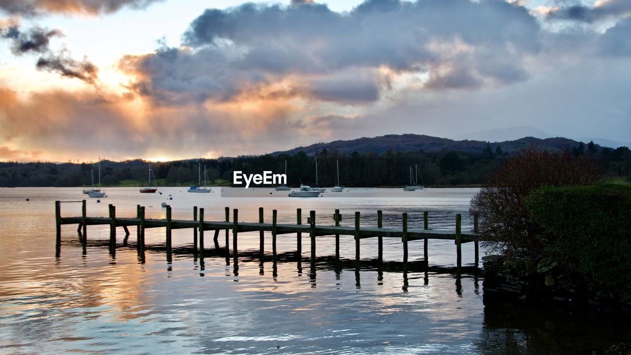
[[[623,17],[631,15],[631,1],[629,0],[603,0],[598,6],[585,6],[582,4],[561,3],[556,9],[550,11],[548,20],[570,20],[591,23],[604,18]]]

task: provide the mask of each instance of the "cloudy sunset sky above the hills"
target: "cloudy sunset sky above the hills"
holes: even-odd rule
[[[630,93],[629,0],[0,0],[0,160],[628,142]]]

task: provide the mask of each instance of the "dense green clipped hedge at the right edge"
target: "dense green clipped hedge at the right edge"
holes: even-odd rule
[[[593,296],[631,301],[631,186],[544,187],[526,206],[546,255]]]

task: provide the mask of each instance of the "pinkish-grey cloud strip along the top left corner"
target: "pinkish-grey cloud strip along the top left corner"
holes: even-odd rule
[[[123,7],[146,8],[160,0],[0,0],[0,9],[11,15],[38,16],[46,13],[100,15]]]

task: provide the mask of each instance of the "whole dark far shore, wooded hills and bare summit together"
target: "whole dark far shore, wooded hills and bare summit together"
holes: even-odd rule
[[[320,186],[403,186],[410,183],[410,166],[418,164],[422,181],[429,186],[481,184],[500,167],[510,153],[538,145],[553,150],[571,150],[574,155],[597,160],[605,176],[628,181],[631,178],[631,151],[584,144],[566,138],[526,137],[514,141],[489,143],[453,141],[418,135],[388,135],[351,141],[321,143],[287,152],[266,155],[191,159],[151,163],[158,184],[186,185],[198,181],[199,164],[206,167],[208,179],[232,181],[233,171],[261,174],[281,173],[287,162],[288,183],[315,184],[317,155]],[[423,147],[423,148],[419,148]],[[127,160],[101,163],[104,186],[144,186],[149,162]],[[91,171],[97,164],[51,162],[0,162],[0,186],[90,186]]]

